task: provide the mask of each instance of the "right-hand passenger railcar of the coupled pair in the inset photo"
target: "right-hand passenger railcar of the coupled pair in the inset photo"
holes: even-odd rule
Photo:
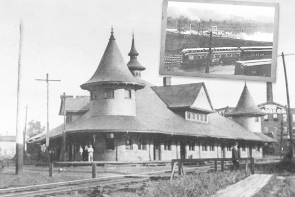
[[[243,46],[239,49],[242,61],[271,59],[272,46]]]

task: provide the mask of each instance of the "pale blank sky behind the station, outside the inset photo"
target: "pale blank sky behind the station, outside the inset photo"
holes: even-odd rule
[[[280,3],[278,52],[294,53],[295,2]],[[162,0],[1,0],[0,1],[0,134],[16,133],[17,76],[19,57],[19,24],[24,34],[21,53],[21,125],[40,121],[46,126],[46,82],[35,79],[60,80],[49,85],[50,129],[59,126],[60,95],[89,95],[80,88],[96,70],[109,41],[111,26],[124,57],[131,48],[132,31],[139,52],[139,62],[147,67],[142,78],[162,85],[159,75]],[[287,56],[291,106],[295,107],[295,56]],[[282,58],[277,59],[277,81],[273,84],[274,101],[286,104]],[[215,108],[236,106],[244,81],[173,76],[172,84],[205,82]],[[266,101],[265,82],[247,82],[257,104]]]

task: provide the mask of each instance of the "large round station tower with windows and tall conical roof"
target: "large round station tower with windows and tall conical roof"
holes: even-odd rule
[[[135,57],[133,62],[136,63],[138,53],[134,42],[132,46],[134,50],[131,48],[129,54],[131,58]],[[115,41],[113,27],[109,43],[96,71],[80,87],[90,92],[90,116],[136,116],[135,92],[144,88],[145,83],[136,79],[128,70]]]

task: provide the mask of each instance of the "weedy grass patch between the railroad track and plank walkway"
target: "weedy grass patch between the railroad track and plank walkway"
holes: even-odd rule
[[[175,180],[158,181],[150,187],[136,193],[131,197],[209,197],[216,191],[226,188],[246,177],[244,171],[224,171],[198,173]]]

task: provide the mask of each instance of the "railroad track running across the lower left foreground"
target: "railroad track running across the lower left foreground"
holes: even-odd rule
[[[59,196],[69,191],[85,193],[85,190],[87,190],[86,192],[91,193],[93,190],[114,192],[123,189],[140,188],[146,186],[147,182],[150,180],[148,174],[159,174],[169,171],[170,170],[164,170],[0,189],[0,197],[36,197],[48,194]]]

